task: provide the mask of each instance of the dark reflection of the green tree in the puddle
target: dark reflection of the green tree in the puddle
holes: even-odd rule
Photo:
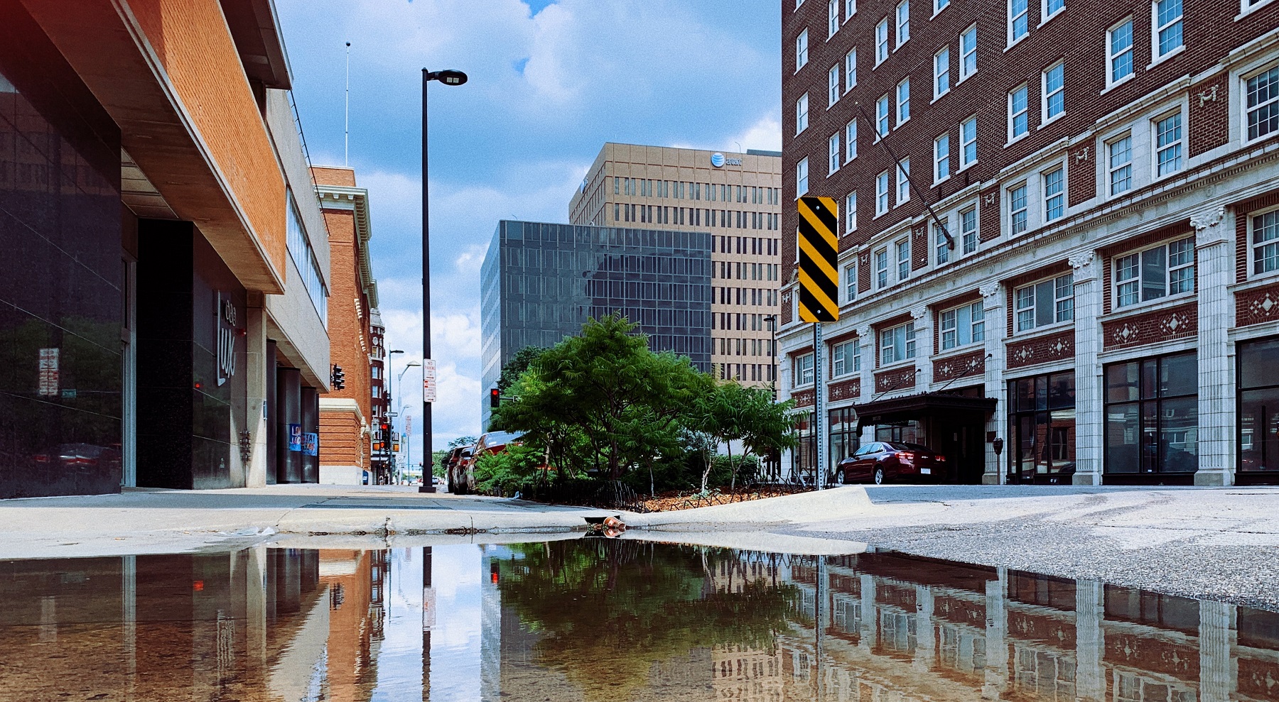
[[[514,552],[498,565],[503,605],[540,634],[538,665],[592,701],[631,697],[654,662],[694,648],[773,651],[796,596],[792,584],[746,575],[729,550],[579,540]],[[743,575],[725,583],[724,573]]]

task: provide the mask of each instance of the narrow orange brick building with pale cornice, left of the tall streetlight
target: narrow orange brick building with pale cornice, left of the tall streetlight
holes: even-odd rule
[[[371,313],[377,307],[377,281],[368,258],[372,229],[368,191],[356,184],[348,168],[312,169],[320,207],[329,228],[330,358],[345,375],[345,387],[320,398],[320,482],[361,485],[372,480]]]

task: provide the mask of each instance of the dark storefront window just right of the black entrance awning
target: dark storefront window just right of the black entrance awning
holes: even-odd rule
[[[1074,474],[1074,372],[1008,381],[1009,482]]]

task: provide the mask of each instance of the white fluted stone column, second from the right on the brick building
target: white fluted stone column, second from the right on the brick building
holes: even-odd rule
[[[1101,485],[1105,410],[1101,363],[1100,257],[1087,251],[1069,258],[1074,269],[1074,485]]]

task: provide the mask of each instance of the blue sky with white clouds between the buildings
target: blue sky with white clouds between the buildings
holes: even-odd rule
[[[396,368],[421,359],[421,69],[469,75],[430,93],[437,448],[480,428],[480,263],[498,220],[567,221],[604,142],[781,147],[775,0],[279,0],[278,10],[317,165],[343,162],[352,43],[349,162],[370,191],[388,348],[407,352]],[[411,402],[420,377],[404,375]],[[420,435],[421,409],[412,414]]]

